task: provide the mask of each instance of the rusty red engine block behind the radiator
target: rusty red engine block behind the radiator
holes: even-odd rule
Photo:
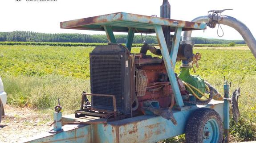
[[[158,101],[161,108],[167,108],[171,105],[171,96],[173,94],[167,70],[163,59],[152,58],[146,55],[135,56],[136,70],[144,70],[147,77],[146,93],[138,96],[139,109],[143,106],[144,101]],[[177,77],[179,89],[185,93],[185,86]],[[174,99],[173,99],[174,100]]]

